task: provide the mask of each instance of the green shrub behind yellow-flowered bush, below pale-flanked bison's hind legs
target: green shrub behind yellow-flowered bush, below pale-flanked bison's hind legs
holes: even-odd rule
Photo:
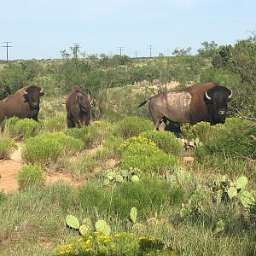
[[[140,136],[147,137],[149,140],[156,143],[157,147],[166,153],[180,155],[181,143],[177,137],[169,131],[143,131]]]

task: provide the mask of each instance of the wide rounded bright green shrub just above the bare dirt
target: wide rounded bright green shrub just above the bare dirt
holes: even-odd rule
[[[26,140],[21,155],[26,162],[47,166],[61,156],[75,154],[84,146],[79,139],[61,132],[44,133]]]

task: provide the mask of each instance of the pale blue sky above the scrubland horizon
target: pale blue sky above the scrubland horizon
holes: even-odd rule
[[[85,55],[172,55],[204,41],[236,44],[256,31],[255,0],[8,0],[0,2],[0,43],[9,60]],[[6,48],[0,48],[0,60]]]

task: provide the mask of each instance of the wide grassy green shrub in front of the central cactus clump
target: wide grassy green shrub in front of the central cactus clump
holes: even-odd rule
[[[148,218],[149,208],[160,212],[163,205],[168,207],[181,203],[183,195],[183,187],[176,183],[144,176],[137,183],[119,183],[116,186],[113,190],[113,211],[125,218],[131,207],[136,207],[141,216]]]

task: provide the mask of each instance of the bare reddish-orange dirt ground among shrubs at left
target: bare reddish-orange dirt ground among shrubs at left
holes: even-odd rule
[[[21,166],[24,163],[21,159],[21,147],[14,151],[11,154],[9,160],[0,160],[0,191],[11,192],[15,189],[19,189],[17,183],[17,173],[19,172]],[[68,175],[67,173],[61,172],[48,172],[46,177],[46,183],[55,183],[57,181],[64,181],[65,183],[69,183],[71,185],[79,185],[73,177]]]

